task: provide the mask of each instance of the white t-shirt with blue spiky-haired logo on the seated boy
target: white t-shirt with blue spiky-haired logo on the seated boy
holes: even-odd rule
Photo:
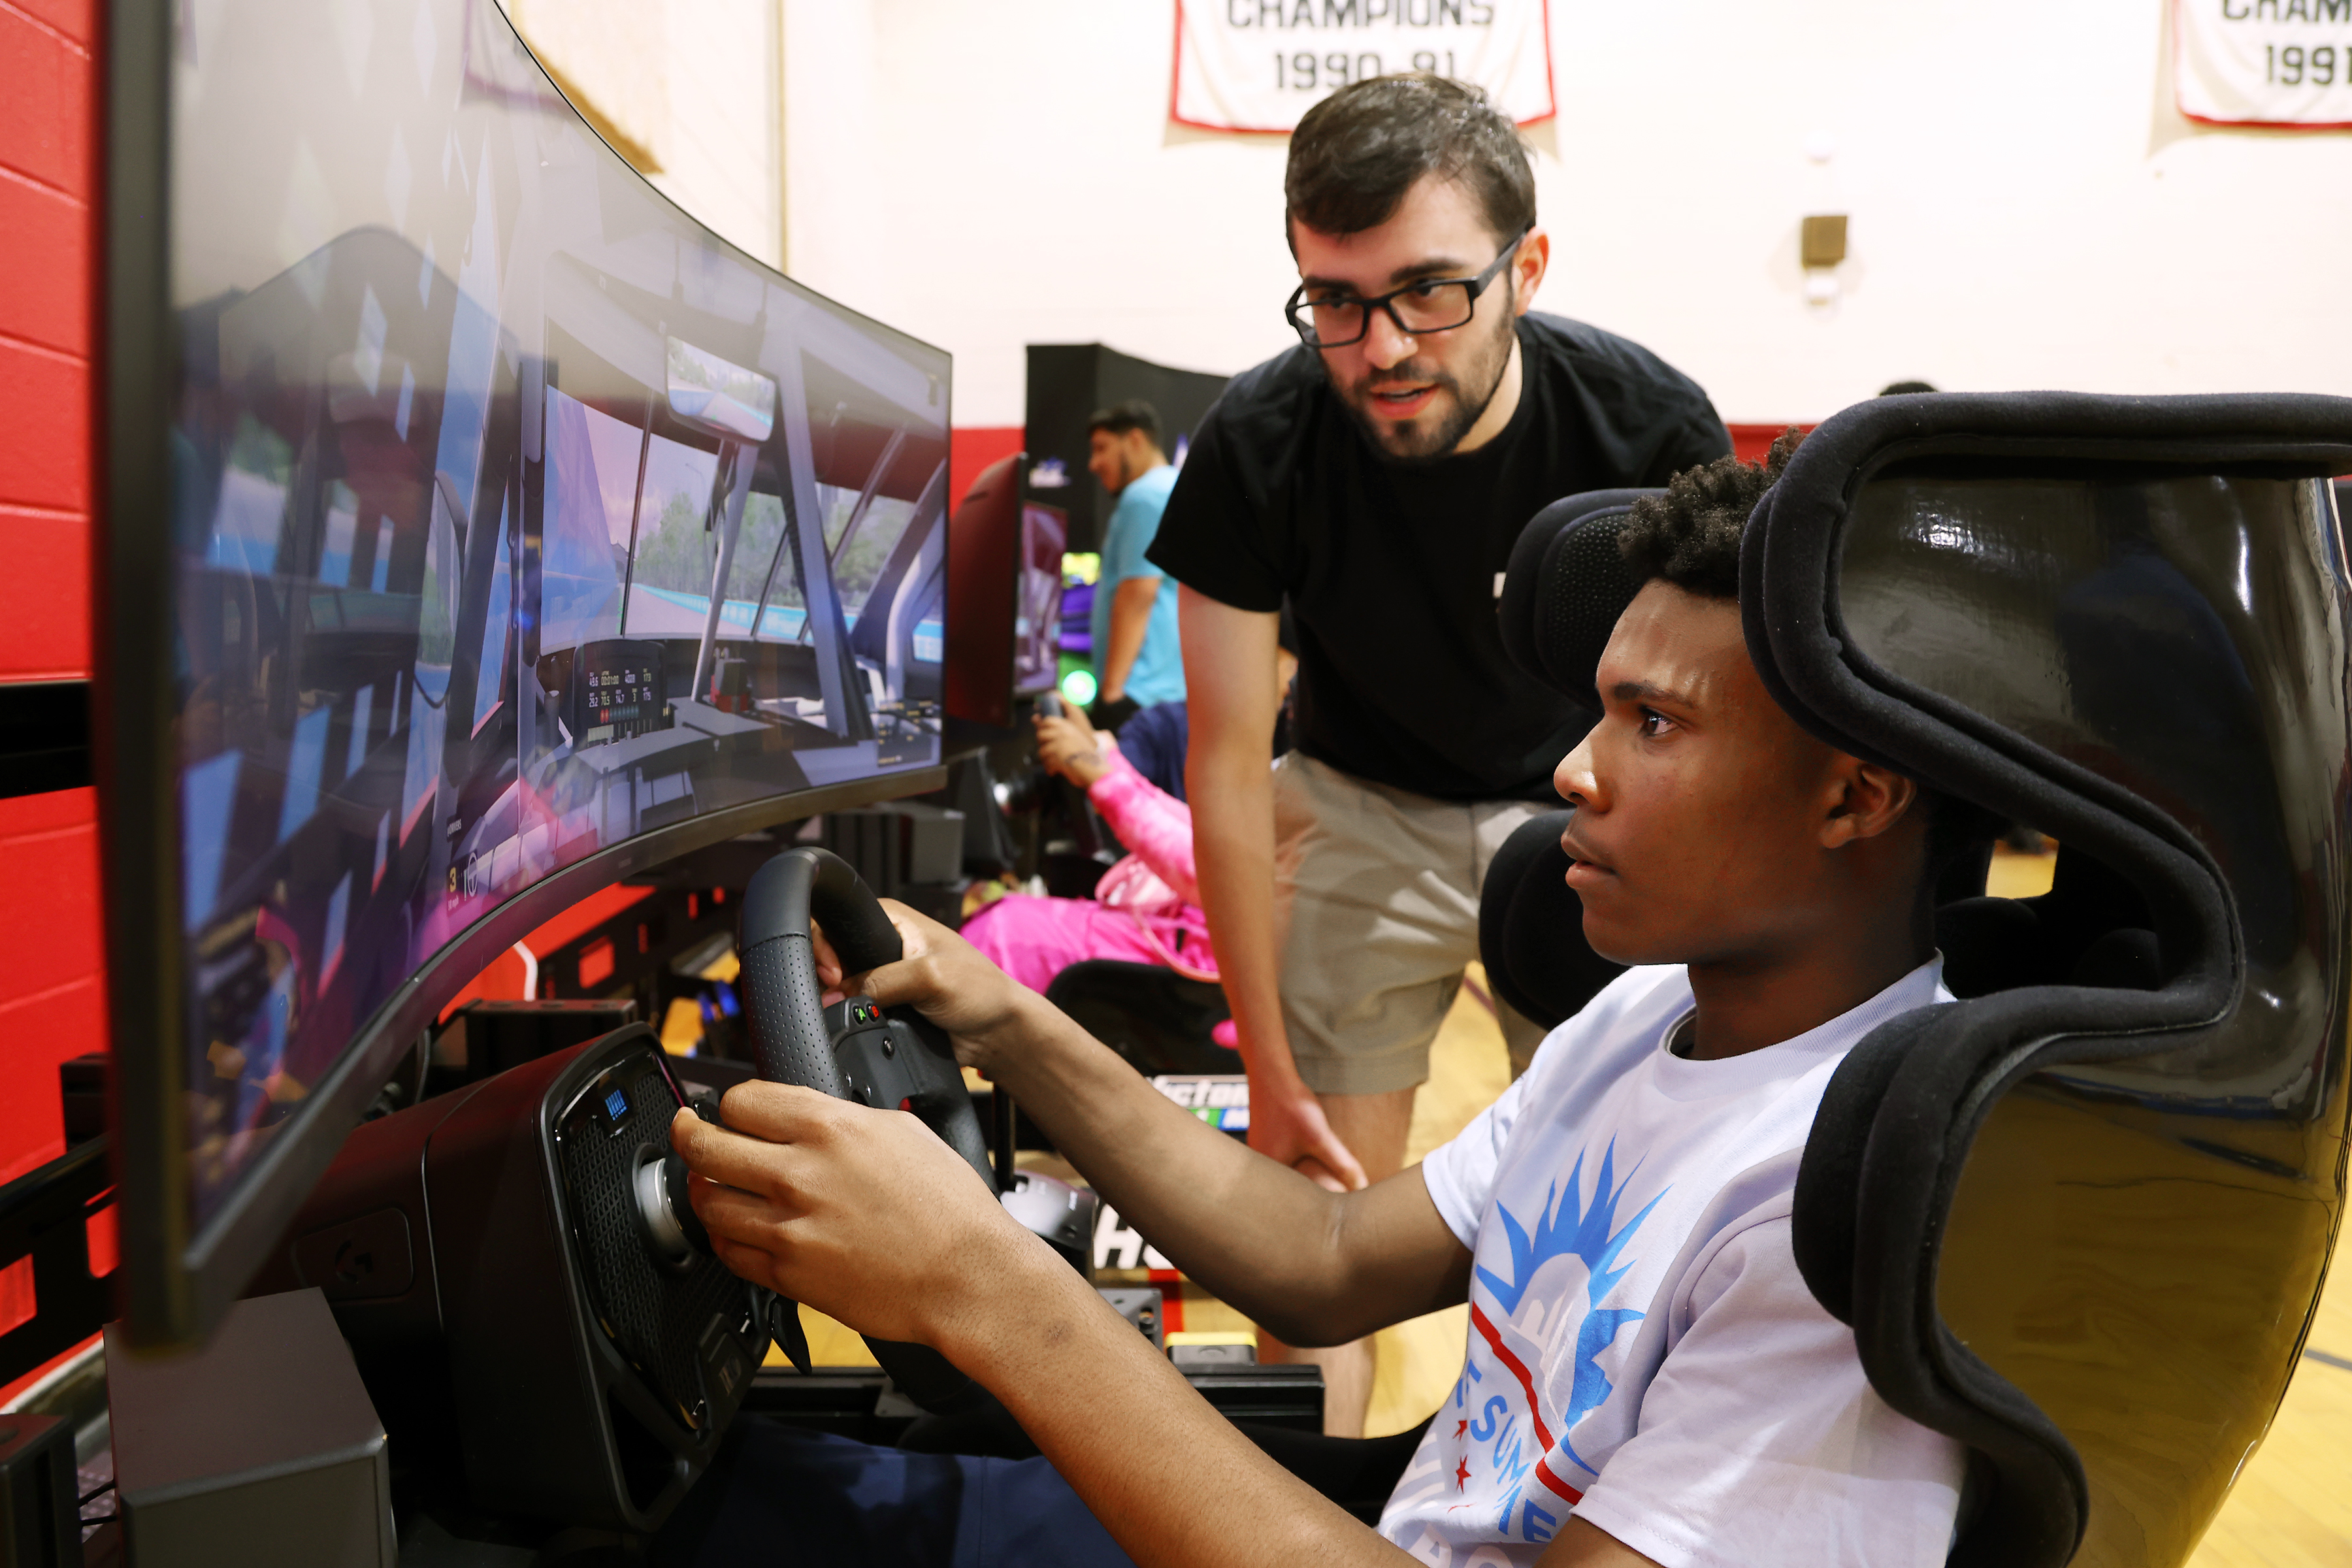
[[[1950,1001],[1943,959],[1764,1051],[1668,1048],[1632,969],[1423,1161],[1475,1253],[1470,1347],[1381,1514],[1425,1563],[1534,1563],[1571,1514],[1665,1568],[1936,1568],[1962,1448],[1891,1410],[1797,1274],[1790,1197],[1839,1058]]]

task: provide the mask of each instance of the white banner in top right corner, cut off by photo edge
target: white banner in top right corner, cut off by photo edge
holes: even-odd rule
[[[2352,0],[2173,0],[2180,113],[2352,129]]]

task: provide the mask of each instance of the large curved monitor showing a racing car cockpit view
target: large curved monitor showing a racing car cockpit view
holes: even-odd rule
[[[663,200],[492,0],[113,16],[99,731],[165,1342],[489,952],[936,778],[948,355]]]

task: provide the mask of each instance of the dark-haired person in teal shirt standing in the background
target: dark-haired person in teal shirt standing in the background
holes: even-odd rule
[[[1176,468],[1160,449],[1160,411],[1141,397],[1096,411],[1087,421],[1087,470],[1117,496],[1094,583],[1096,715],[1117,726],[1136,708],[1183,701],[1176,592],[1143,559],[1176,489]]]

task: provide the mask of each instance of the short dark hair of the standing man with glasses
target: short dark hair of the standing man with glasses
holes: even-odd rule
[[[1536,172],[1510,115],[1468,82],[1409,71],[1341,87],[1298,120],[1282,228],[1359,235],[1430,174],[1477,197],[1498,244],[1536,221]]]

